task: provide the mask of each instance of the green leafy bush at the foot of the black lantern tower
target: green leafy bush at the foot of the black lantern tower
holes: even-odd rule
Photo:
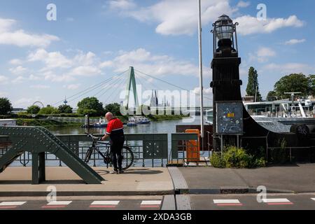
[[[244,148],[228,146],[221,153],[213,153],[210,158],[211,165],[218,168],[254,168],[265,167],[266,161],[263,157],[255,157],[246,153]]]

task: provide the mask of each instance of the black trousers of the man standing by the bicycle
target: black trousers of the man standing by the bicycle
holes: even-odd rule
[[[120,136],[115,139],[111,139],[111,161],[115,170],[122,169],[123,162],[123,146],[125,142],[125,136]]]

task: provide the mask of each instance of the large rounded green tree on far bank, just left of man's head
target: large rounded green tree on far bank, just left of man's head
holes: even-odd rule
[[[78,102],[78,113],[90,116],[104,116],[103,104],[96,97],[87,97]]]

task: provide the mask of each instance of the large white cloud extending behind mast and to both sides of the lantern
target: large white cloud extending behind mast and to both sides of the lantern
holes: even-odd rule
[[[128,1],[130,2],[130,1]],[[212,24],[222,14],[233,17],[239,8],[248,7],[249,1],[239,1],[237,6],[231,6],[229,0],[202,1],[202,23]],[[118,7],[119,8],[119,7]],[[120,8],[125,16],[132,17],[140,22],[158,23],[155,31],[162,35],[192,35],[197,31],[197,1],[192,0],[162,0],[152,6],[138,7],[134,10]],[[265,34],[282,27],[302,27],[304,22],[296,15],[288,18],[268,18],[260,21],[250,15],[243,15],[235,22],[239,22],[239,33]]]

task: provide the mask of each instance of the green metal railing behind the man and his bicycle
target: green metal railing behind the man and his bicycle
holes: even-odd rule
[[[60,141],[68,146],[81,159],[85,158],[87,149],[92,142],[85,134],[59,134],[55,135]],[[95,134],[95,137],[102,137],[102,134]],[[2,139],[2,140],[1,140]],[[8,150],[10,145],[5,144],[7,137],[1,137],[3,144],[0,144],[0,158]],[[129,146],[134,153],[134,167],[164,167],[167,165],[168,139],[167,134],[125,134],[125,146]],[[99,150],[104,152],[108,146],[99,146]],[[45,161],[48,166],[64,166],[61,160],[55,155],[45,153]],[[13,165],[31,165],[31,153],[23,153],[15,160]],[[90,160],[90,165],[103,166],[103,158],[94,153]]]

